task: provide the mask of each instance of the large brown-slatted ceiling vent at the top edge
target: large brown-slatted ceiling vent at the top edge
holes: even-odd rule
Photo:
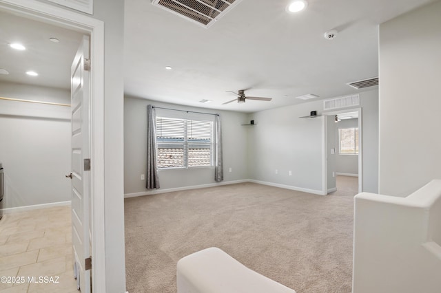
[[[209,28],[242,0],[152,0],[154,6]]]

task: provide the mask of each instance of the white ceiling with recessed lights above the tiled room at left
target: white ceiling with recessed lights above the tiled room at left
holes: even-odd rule
[[[60,42],[52,43],[52,37]],[[0,80],[70,89],[70,66],[80,41],[78,32],[0,11],[0,68],[9,72],[0,74]],[[10,43],[26,50],[14,50]],[[30,70],[39,76],[26,75]]]

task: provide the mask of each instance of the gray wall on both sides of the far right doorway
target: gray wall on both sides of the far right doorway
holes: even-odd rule
[[[378,192],[378,90],[360,93],[362,108],[362,191]],[[322,100],[249,115],[251,179],[322,191],[322,119],[298,118],[321,113]],[[348,110],[351,108],[347,108]],[[278,170],[278,174],[275,170]],[[288,172],[292,171],[292,176]]]

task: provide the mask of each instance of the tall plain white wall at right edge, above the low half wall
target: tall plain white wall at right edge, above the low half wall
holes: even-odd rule
[[[441,178],[441,1],[380,25],[380,193]]]

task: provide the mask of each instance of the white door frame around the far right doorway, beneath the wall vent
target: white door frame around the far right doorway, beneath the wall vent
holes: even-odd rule
[[[334,116],[341,113],[358,112],[358,193],[363,191],[363,143],[362,143],[362,108],[345,108],[334,111],[322,112],[322,116]],[[328,194],[328,163],[327,163],[327,117],[322,120],[322,193]]]

